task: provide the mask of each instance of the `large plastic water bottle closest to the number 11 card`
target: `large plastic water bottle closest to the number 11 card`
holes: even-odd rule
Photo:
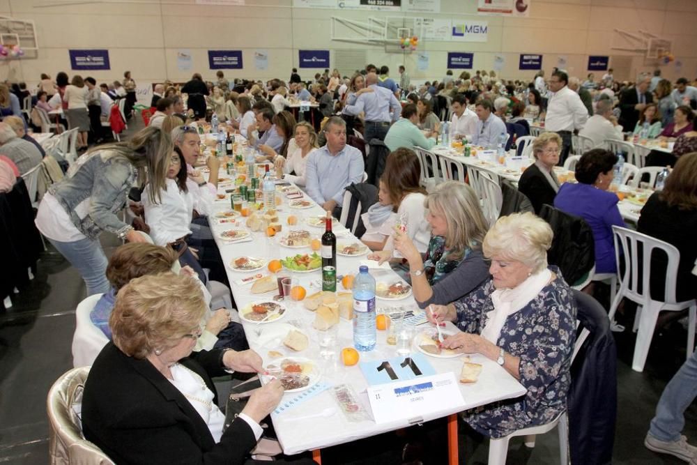
[[[362,352],[375,349],[375,278],[367,266],[353,281],[353,346]]]

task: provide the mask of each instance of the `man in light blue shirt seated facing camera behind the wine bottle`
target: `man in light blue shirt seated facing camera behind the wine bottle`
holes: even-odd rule
[[[344,188],[360,183],[365,165],[358,148],[346,145],[346,122],[332,116],[324,125],[327,144],[307,155],[305,192],[339,218]]]

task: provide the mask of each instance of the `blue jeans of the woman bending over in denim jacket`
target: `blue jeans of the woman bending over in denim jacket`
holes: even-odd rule
[[[79,271],[87,286],[87,296],[108,292],[111,285],[107,280],[107,256],[102,250],[99,239],[92,241],[84,238],[75,242],[59,242],[49,239],[66,257],[72,266]]]

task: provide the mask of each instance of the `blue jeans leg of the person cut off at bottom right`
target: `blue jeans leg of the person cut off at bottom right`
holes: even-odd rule
[[[661,441],[678,441],[684,412],[697,397],[697,351],[682,364],[661,394],[649,434]]]

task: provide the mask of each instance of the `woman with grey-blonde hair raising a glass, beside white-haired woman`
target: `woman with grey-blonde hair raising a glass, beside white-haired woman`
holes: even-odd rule
[[[421,308],[453,302],[489,278],[482,254],[488,224],[474,190],[447,181],[429,194],[426,208],[431,240],[425,259],[408,235],[395,233],[395,250],[409,264],[414,298]]]

